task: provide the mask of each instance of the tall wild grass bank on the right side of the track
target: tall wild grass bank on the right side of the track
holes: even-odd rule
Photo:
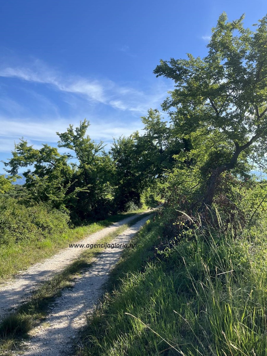
[[[266,236],[197,230],[153,258],[162,223],[124,251],[77,355],[266,355]]]

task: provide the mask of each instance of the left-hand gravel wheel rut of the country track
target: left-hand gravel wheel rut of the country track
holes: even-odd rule
[[[138,215],[143,215],[141,213]],[[77,241],[77,244],[92,244],[102,237],[114,232],[118,227],[129,223],[136,216],[130,216],[124,220],[105,227],[104,229],[95,232],[83,240]],[[19,274],[15,279],[5,283],[0,287],[0,320],[9,313],[12,308],[25,301],[30,293],[37,288],[38,284],[52,278],[57,272],[68,266],[79,254],[83,251],[82,248],[64,248],[61,252],[46,259],[43,262],[36,263],[26,271]]]

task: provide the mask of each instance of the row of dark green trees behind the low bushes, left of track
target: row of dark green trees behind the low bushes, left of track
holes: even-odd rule
[[[41,149],[29,146],[23,138],[15,144],[12,158],[4,162],[7,172],[15,177],[25,167],[25,204],[46,203],[51,208],[66,211],[74,224],[91,218],[103,219],[117,211],[138,209],[159,194],[156,178],[173,162],[170,147],[172,132],[157,111],[149,110],[143,118],[145,135],[138,132],[114,141],[110,153],[103,142],[95,143],[87,135],[89,122],[84,120],[73,129],[58,133],[58,147],[44,144]],[[164,154],[163,154],[164,153]],[[3,177],[2,192],[12,188]],[[5,183],[5,184],[4,184]],[[9,192],[9,195],[11,192]],[[22,201],[21,201],[22,203]]]

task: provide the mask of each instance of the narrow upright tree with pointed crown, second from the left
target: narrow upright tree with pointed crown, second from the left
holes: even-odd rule
[[[89,126],[90,122],[83,120],[75,130],[73,125],[69,125],[66,132],[57,132],[60,138],[58,147],[71,150],[68,157],[79,163],[74,163],[77,168],[74,177],[77,187],[83,190],[77,195],[79,203],[75,205],[73,214],[81,219],[90,215],[105,218],[111,209],[114,164],[104,151],[103,142],[96,143],[87,135]]]

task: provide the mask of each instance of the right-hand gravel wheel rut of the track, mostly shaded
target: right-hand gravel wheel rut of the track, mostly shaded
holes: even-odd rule
[[[139,220],[110,243],[127,244],[149,217]],[[94,310],[103,293],[110,269],[120,258],[122,248],[105,249],[92,267],[75,281],[72,289],[63,290],[56,299],[46,321],[31,333],[32,339],[24,343],[25,350],[16,355],[59,356],[70,355],[78,330],[86,323],[86,314]]]

